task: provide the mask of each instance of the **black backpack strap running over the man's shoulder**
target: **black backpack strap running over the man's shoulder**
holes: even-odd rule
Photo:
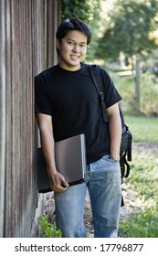
[[[104,101],[104,92],[102,90],[102,82],[100,81],[101,77],[100,77],[100,73],[99,73],[99,66],[89,65],[89,70],[90,70],[90,76],[94,83],[94,86],[95,86],[98,94],[100,95],[101,109],[102,109],[102,115],[103,115],[104,122],[108,123],[109,118],[108,118],[108,114],[106,112],[106,105],[105,105],[105,101]]]

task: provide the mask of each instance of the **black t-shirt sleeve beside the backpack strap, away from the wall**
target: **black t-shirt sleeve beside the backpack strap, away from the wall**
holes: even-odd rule
[[[120,93],[115,88],[110,74],[105,69],[101,69],[101,76],[103,81],[103,91],[105,95],[105,105],[107,108],[109,108],[113,104],[121,101],[122,98]]]

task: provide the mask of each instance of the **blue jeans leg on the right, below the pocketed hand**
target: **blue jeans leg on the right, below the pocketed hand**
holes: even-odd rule
[[[96,238],[115,238],[121,208],[120,163],[109,155],[90,165],[89,191]]]

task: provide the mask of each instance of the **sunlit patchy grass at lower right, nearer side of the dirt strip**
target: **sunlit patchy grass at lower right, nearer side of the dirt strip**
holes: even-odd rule
[[[139,202],[130,219],[120,222],[119,236],[158,238],[158,155],[133,154],[127,191],[134,191]]]

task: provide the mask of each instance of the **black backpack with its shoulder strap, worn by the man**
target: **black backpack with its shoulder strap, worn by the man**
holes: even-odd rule
[[[104,92],[102,90],[102,81],[100,76],[100,66],[89,65],[91,79],[95,85],[95,88],[100,95],[100,103],[102,109],[102,116],[105,123],[109,122],[108,114],[106,112],[106,106],[104,101]],[[132,133],[129,127],[124,123],[123,114],[120,109],[121,115],[121,149],[120,149],[120,165],[121,165],[121,184],[123,183],[123,178],[130,175],[130,165],[127,161],[132,161]]]

